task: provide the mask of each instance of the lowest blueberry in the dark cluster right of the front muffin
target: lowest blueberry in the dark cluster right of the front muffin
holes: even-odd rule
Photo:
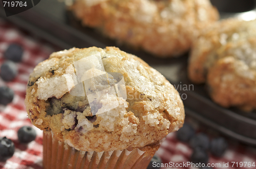
[[[206,164],[208,162],[209,156],[207,152],[202,149],[201,147],[197,147],[194,149],[193,154],[190,157],[191,162],[193,163],[204,163]]]

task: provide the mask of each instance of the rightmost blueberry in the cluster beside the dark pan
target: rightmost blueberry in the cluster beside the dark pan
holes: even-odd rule
[[[210,143],[210,151],[212,155],[221,157],[227,150],[228,144],[223,137],[214,138]]]

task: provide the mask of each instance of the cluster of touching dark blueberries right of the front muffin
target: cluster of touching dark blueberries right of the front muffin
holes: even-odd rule
[[[217,137],[210,140],[206,134],[196,133],[195,129],[188,123],[184,123],[183,127],[177,131],[176,136],[177,139],[188,143],[193,149],[193,153],[190,157],[193,163],[207,164],[209,160],[208,151],[216,157],[221,157],[228,148],[228,143],[225,138]]]

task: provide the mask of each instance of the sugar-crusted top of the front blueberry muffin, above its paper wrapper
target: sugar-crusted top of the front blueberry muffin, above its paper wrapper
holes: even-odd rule
[[[30,74],[25,104],[33,125],[82,151],[158,144],[184,121],[175,88],[116,47],[52,53]]]

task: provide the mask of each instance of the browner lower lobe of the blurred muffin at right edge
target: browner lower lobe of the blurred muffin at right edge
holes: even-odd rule
[[[236,105],[248,111],[256,108],[256,79],[242,76],[236,70],[238,66],[244,65],[233,57],[220,59],[210,68],[207,83],[215,102],[224,107]],[[256,76],[255,71],[248,70],[250,73]]]

